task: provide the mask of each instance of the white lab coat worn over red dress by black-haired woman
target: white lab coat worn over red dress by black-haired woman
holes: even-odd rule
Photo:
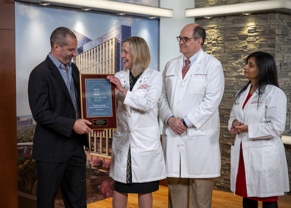
[[[228,129],[233,120],[248,125],[248,132],[237,134],[231,146],[231,191],[235,193],[242,144],[248,197],[284,195],[289,192],[289,179],[279,136],[285,129],[286,95],[280,88],[267,85],[259,100],[256,91],[242,110],[250,86],[234,103],[228,121]]]

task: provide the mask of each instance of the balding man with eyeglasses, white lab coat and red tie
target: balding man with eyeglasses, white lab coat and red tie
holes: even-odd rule
[[[183,55],[163,71],[159,116],[169,208],[211,208],[214,178],[220,176],[219,111],[224,91],[220,62],[202,50],[201,25],[186,25],[177,37]],[[189,199],[190,193],[190,199]]]

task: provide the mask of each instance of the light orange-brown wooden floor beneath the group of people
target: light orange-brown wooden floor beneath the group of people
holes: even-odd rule
[[[168,206],[168,188],[160,186],[159,191],[153,193],[153,208],[167,208]],[[112,198],[87,204],[87,208],[111,208]],[[128,194],[127,208],[137,208],[137,194]],[[213,190],[212,208],[241,208],[242,197],[234,196],[233,193]],[[259,208],[262,202],[259,202]],[[291,195],[285,195],[279,198],[279,208],[291,208]]]

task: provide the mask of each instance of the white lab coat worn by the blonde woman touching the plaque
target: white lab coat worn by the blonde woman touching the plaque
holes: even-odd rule
[[[112,141],[110,176],[126,183],[128,147],[131,148],[132,183],[166,178],[160,141],[157,102],[162,90],[162,74],[146,69],[129,91],[129,70],[115,74],[128,90],[116,94],[117,129]]]

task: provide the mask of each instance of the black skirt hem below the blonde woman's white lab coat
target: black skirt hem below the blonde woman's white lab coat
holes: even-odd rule
[[[159,181],[145,183],[120,183],[114,181],[114,190],[122,193],[151,193],[159,190]]]

